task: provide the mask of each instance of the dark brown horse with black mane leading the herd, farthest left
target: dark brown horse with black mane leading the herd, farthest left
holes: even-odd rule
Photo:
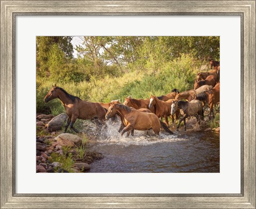
[[[77,118],[84,120],[90,119],[99,126],[105,125],[106,111],[99,103],[83,101],[80,98],[67,93],[61,87],[56,85],[52,86],[52,89],[45,95],[44,102],[49,102],[55,98],[60,99],[66,110],[66,114],[68,115],[65,132],[70,125],[70,128],[78,133],[76,128],[73,127]]]

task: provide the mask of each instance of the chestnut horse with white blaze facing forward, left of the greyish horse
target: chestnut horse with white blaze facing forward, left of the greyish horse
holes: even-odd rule
[[[156,111],[155,114],[157,115],[158,118],[164,117],[165,124],[167,125],[167,127],[169,127],[168,116],[171,115],[172,102],[173,102],[173,99],[162,101],[162,100],[159,100],[156,96],[153,96],[153,95],[150,96],[149,107],[151,108],[155,106],[155,111]],[[180,111],[177,110],[177,112],[175,112],[176,119],[178,119],[179,114],[180,114]],[[172,116],[171,118],[172,118],[172,124],[174,125],[174,117]]]

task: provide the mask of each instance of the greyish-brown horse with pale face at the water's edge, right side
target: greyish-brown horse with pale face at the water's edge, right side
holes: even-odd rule
[[[190,102],[187,101],[174,101],[171,106],[171,115],[174,115],[177,109],[182,109],[184,115],[179,120],[179,124],[177,126],[177,131],[179,131],[180,123],[184,122],[184,130],[186,131],[186,118],[189,116],[195,116],[197,118],[198,124],[200,124],[200,120],[204,119],[204,110],[202,102],[199,100],[192,100]]]

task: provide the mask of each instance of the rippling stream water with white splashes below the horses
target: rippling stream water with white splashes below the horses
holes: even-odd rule
[[[134,136],[126,137],[120,136],[118,127],[109,122],[105,130],[91,130],[95,136],[90,149],[104,158],[92,163],[90,172],[219,172],[219,134],[180,128],[173,135],[134,131]]]

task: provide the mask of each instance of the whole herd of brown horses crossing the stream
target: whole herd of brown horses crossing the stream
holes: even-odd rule
[[[105,126],[106,120],[119,116],[121,126],[118,132],[123,135],[133,135],[134,130],[153,130],[159,135],[161,127],[169,133],[168,117],[172,120],[172,126],[175,120],[179,119],[177,131],[180,123],[183,121],[186,131],[186,118],[195,116],[198,124],[204,119],[204,106],[209,106],[209,119],[214,117],[213,107],[220,102],[220,66],[219,62],[210,61],[214,69],[197,74],[194,90],[179,92],[173,89],[169,94],[156,97],[151,95],[149,99],[134,99],[131,96],[125,98],[122,104],[119,100],[113,100],[109,103],[87,102],[78,97],[67,93],[61,87],[52,86],[51,90],[45,95],[44,102],[59,98],[65,107],[68,115],[65,132],[70,126],[71,130],[78,133],[74,127],[76,119],[89,119],[99,127]],[[182,110],[182,111],[180,111]],[[180,114],[182,112],[182,114]],[[162,122],[164,118],[164,122]]]

